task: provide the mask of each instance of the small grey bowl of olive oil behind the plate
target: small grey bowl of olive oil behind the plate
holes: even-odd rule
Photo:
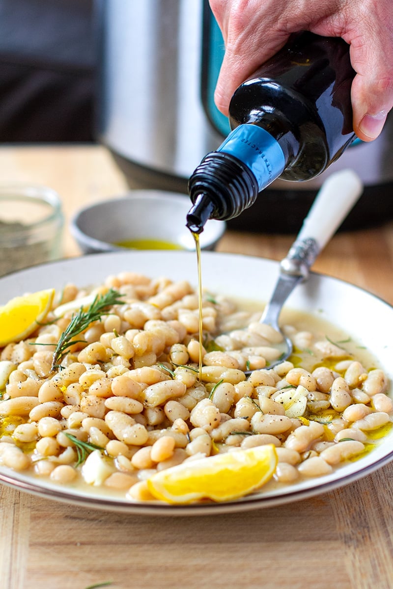
[[[83,253],[124,249],[194,250],[186,227],[187,196],[157,190],[134,190],[123,197],[91,204],[75,214],[70,231]],[[201,249],[214,250],[224,221],[209,220],[200,234]]]

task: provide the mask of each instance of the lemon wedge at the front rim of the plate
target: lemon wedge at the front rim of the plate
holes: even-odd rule
[[[204,498],[230,501],[262,487],[277,462],[273,444],[256,446],[171,466],[148,478],[147,486],[153,497],[173,504]]]

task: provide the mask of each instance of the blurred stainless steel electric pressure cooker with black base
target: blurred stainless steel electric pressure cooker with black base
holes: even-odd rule
[[[98,139],[130,188],[176,191],[229,133],[213,92],[224,54],[207,0],[98,0]],[[230,229],[296,233],[323,180],[355,170],[364,194],[341,229],[393,218],[393,118],[379,138],[356,141],[325,173],[306,182],[276,180]]]

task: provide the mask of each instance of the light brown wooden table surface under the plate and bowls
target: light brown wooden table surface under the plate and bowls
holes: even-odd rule
[[[98,146],[3,147],[0,177],[54,188],[67,220],[127,190]],[[219,250],[280,259],[292,239],[228,232]],[[64,255],[77,254],[66,229]],[[392,223],[338,234],[315,270],[393,303]],[[0,587],[391,589],[392,479],[393,464],[293,505],[197,518],[90,511],[1,486]]]

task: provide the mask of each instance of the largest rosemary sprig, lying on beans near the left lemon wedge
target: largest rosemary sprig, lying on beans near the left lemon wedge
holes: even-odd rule
[[[57,342],[52,357],[51,372],[61,368],[61,360],[74,343],[84,342],[83,339],[75,340],[74,337],[87,329],[90,323],[100,320],[103,315],[107,314],[111,306],[124,305],[124,301],[120,300],[121,296],[123,295],[117,290],[109,289],[105,294],[97,294],[87,310],[84,311],[81,307],[77,313],[72,315],[70,325],[64,330]]]

